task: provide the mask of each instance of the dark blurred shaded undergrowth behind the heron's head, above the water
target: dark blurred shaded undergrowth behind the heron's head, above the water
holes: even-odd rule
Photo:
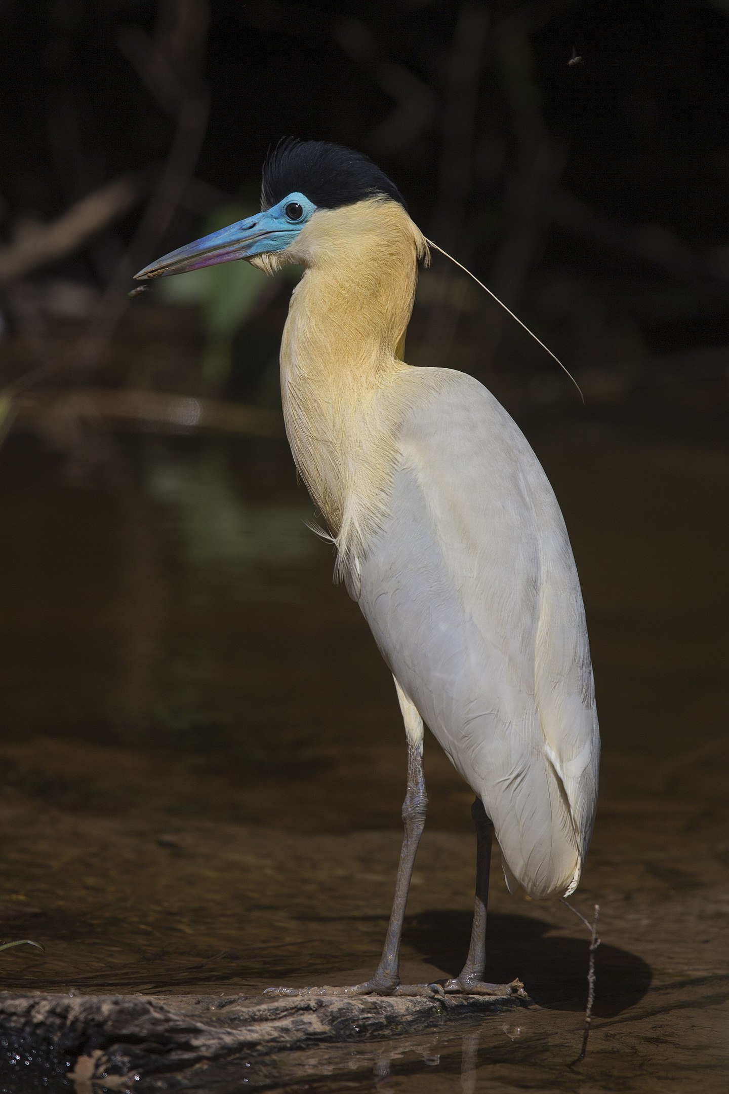
[[[251,206],[267,149],[295,135],[376,159],[426,234],[518,310],[592,408],[724,412],[728,30],[720,0],[5,0],[3,247],[15,258],[34,228],[37,242],[115,179],[128,191],[95,224],[61,222],[55,254],[40,244],[10,272],[0,264],[3,377],[44,365],[28,392],[142,383],[274,400],[285,291],[257,281],[261,299],[223,323],[226,349],[207,370],[204,353],[183,352],[221,340],[204,307],[161,369],[151,330],[165,316],[179,330],[179,307],[171,321],[126,292],[134,269]],[[507,401],[578,403],[445,259],[421,302],[415,363],[469,369]],[[118,337],[136,342],[133,375],[129,358],[113,368]]]

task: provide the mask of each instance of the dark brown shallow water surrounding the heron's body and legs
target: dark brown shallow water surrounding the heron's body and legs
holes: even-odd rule
[[[583,580],[603,733],[575,905],[588,936],[492,878],[494,980],[518,1020],[319,1050],[282,1089],[724,1090],[729,1056],[729,452],[626,415],[527,429]],[[78,457],[78,453],[77,453]],[[377,962],[404,744],[391,679],[331,583],[283,444],[108,439],[103,458],[0,450],[0,954],[8,989],[255,992]],[[408,979],[468,945],[470,793],[426,745],[431,808]],[[317,1078],[318,1076],[318,1078]],[[243,1089],[226,1073],[215,1089]]]

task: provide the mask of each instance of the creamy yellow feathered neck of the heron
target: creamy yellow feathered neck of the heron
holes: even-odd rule
[[[397,380],[424,240],[401,206],[320,210],[301,233],[307,269],[281,344],[286,433],[340,552],[377,525],[403,411]]]

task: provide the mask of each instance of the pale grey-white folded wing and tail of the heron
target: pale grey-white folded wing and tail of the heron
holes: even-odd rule
[[[437,393],[422,398],[425,379]],[[522,433],[478,381],[414,369],[403,383],[413,410],[357,598],[396,678],[482,798],[507,882],[534,897],[571,892],[600,746],[564,521]]]

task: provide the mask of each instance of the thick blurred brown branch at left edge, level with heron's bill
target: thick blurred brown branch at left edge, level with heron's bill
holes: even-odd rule
[[[19,225],[13,242],[0,247],[0,286],[78,251],[127,212],[139,199],[140,190],[139,179],[124,175],[77,201],[56,220],[25,221]]]

